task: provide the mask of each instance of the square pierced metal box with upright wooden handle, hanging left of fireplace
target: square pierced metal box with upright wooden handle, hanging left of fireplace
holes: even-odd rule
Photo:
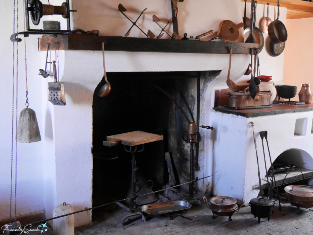
[[[57,67],[55,65],[55,60],[52,61],[53,63],[53,74],[54,74],[54,82],[48,83],[48,90],[49,90],[49,101],[53,105],[66,105],[65,102],[65,91],[64,91],[64,83],[58,82],[57,77]]]

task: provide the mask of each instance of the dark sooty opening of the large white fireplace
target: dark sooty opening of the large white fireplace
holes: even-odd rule
[[[168,184],[165,153],[170,153],[176,184],[189,181],[190,146],[182,140],[188,121],[183,112],[196,122],[197,78],[203,98],[207,85],[219,74],[220,71],[107,73],[110,94],[98,96],[105,84],[103,79],[93,97],[93,206],[130,196],[131,155],[123,145],[103,146],[109,135],[137,130],[163,135],[163,140],[145,144],[144,151],[136,154],[138,181],[146,190],[160,190]],[[199,151],[203,151],[203,144]],[[181,189],[188,190],[188,185]],[[105,210],[116,208],[114,204]]]

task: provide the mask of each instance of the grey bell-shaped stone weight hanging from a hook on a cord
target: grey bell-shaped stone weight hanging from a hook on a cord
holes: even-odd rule
[[[20,112],[16,137],[20,143],[32,143],[41,140],[34,110],[25,108]]]

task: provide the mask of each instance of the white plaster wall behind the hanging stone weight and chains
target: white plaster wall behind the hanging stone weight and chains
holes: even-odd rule
[[[17,14],[17,12],[16,12]],[[19,3],[19,31],[23,31],[23,1]],[[11,133],[12,133],[12,62],[13,43],[10,36],[13,33],[13,1],[1,3],[0,8],[1,38],[0,38],[0,92],[2,97],[0,114],[0,219],[8,218],[10,214],[10,175],[11,175]],[[23,38],[23,37],[22,37]],[[15,43],[15,48],[17,43]],[[42,107],[41,85],[43,79],[38,75],[41,60],[38,53],[37,38],[26,39],[28,99],[29,108],[36,112],[42,141],[36,143],[18,143],[17,166],[17,214],[44,209],[44,140],[45,132]],[[18,43],[18,115],[25,106],[25,51],[24,38]],[[16,65],[16,63],[15,63]],[[35,66],[34,66],[35,65]],[[16,74],[16,67],[15,67]],[[16,81],[16,79],[15,79]],[[15,93],[15,92],[14,92]],[[15,115],[15,109],[14,109]],[[15,124],[14,124],[15,125]],[[15,128],[14,135],[15,139]],[[15,172],[15,140],[13,152],[13,172]],[[14,181],[13,173],[13,209],[14,216]]]

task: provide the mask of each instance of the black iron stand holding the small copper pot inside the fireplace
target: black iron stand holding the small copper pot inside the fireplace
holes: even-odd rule
[[[183,135],[182,140],[190,144],[190,181],[194,181],[195,180],[195,155],[194,155],[193,145],[201,141],[201,136],[199,132],[197,132],[196,134],[188,134],[186,132]],[[189,184],[189,193],[188,193],[189,197],[185,198],[184,201],[198,200],[199,204],[201,205],[200,198],[194,197],[193,195],[194,193],[197,193],[197,190],[195,190],[195,183],[192,182]]]

